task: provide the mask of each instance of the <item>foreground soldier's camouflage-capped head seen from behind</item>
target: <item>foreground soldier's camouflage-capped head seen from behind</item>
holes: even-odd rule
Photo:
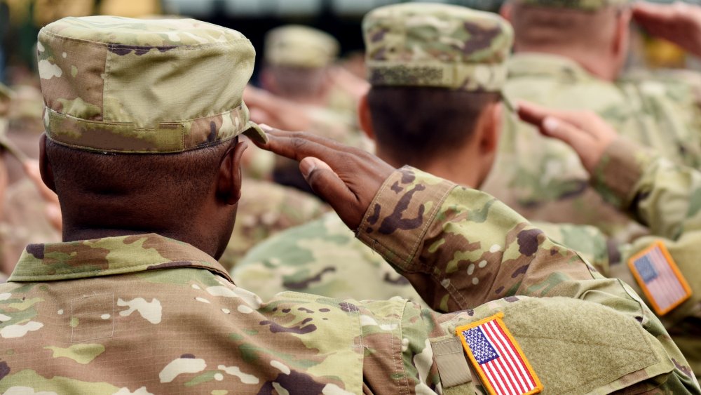
[[[236,136],[265,140],[242,100],[255,53],[239,32],[64,18],[41,29],[37,48],[64,222],[158,231],[197,210]]]

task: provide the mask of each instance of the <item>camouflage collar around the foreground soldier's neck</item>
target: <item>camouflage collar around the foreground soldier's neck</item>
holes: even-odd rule
[[[231,281],[224,267],[207,253],[153,233],[29,244],[8,281],[84,279],[177,267],[207,269]]]

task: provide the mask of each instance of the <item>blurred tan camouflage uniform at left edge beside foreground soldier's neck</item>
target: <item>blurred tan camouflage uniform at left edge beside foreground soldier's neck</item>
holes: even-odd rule
[[[28,178],[8,187],[3,204],[4,217],[0,221],[0,272],[10,274],[27,244],[57,243],[61,241],[61,232],[43,215],[46,212],[46,201]]]

